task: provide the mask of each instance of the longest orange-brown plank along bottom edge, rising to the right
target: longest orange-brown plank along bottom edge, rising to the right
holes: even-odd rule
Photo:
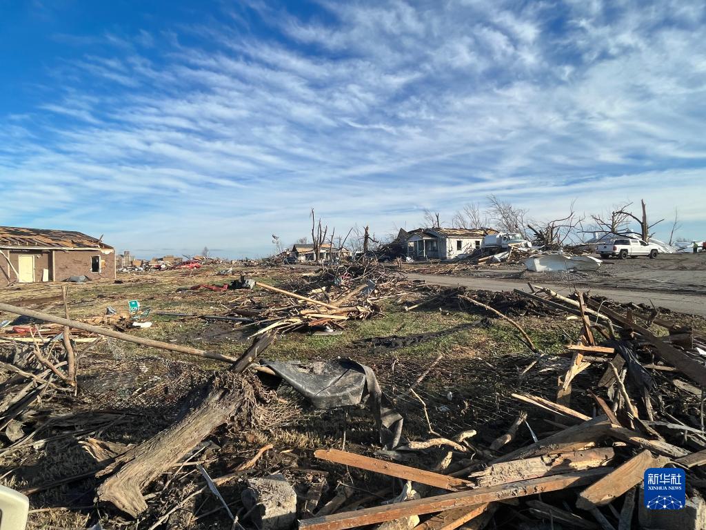
[[[477,488],[474,490],[458,491],[436,497],[427,497],[407,502],[397,502],[392,505],[364,508],[356,512],[342,512],[325,517],[312,517],[299,522],[299,529],[304,530],[343,530],[356,526],[402,519],[412,515],[431,514],[526,495],[546,493],[549,491],[575,488],[593,483],[597,477],[604,476],[610,468],[589,469],[551,477],[534,478],[530,481],[521,481],[513,484]]]

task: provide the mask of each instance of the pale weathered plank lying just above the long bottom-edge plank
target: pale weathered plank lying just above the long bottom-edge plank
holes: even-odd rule
[[[469,478],[481,487],[507,484],[527,481],[530,478],[608,466],[614,457],[615,453],[612,447],[546,454],[542,457],[491,464],[483,471],[470,473]]]

